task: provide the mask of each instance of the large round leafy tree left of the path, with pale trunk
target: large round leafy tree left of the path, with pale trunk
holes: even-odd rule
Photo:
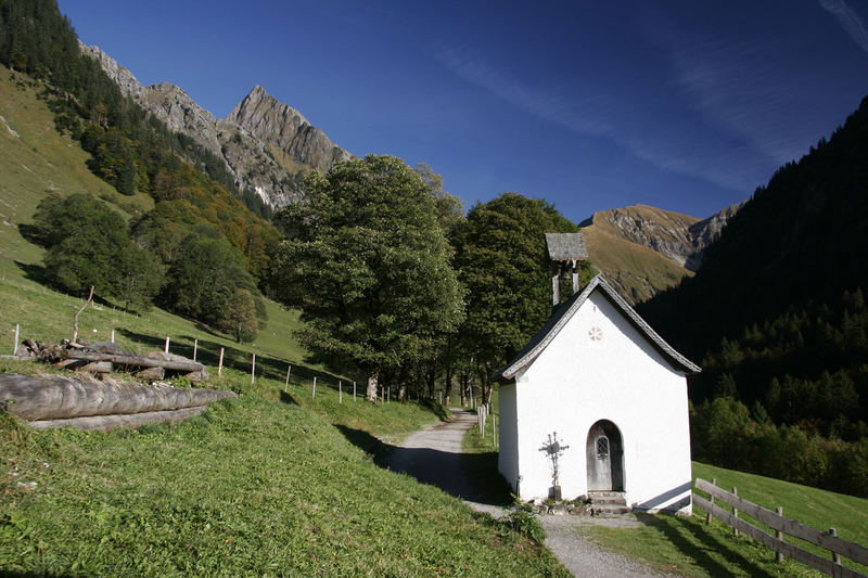
[[[462,319],[451,249],[432,188],[399,158],[369,155],[311,174],[304,202],[277,217],[288,239],[275,296],[302,310],[317,359],[380,375],[430,351]]]

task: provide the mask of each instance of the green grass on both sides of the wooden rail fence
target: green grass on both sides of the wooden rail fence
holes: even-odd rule
[[[821,530],[835,527],[841,538],[868,544],[868,500],[697,462],[693,476],[716,478],[717,485],[727,490],[736,486],[745,500],[773,510],[782,505],[787,517]],[[775,563],[771,550],[743,535],[735,537],[730,526],[716,519],[706,525],[705,513],[699,509],[689,517],[637,517],[642,523],[639,528],[586,526],[583,534],[607,550],[646,561],[660,571],[685,576],[822,576],[790,560]],[[829,556],[828,551],[801,540],[787,540]],[[843,562],[858,571],[868,571],[851,561]]]

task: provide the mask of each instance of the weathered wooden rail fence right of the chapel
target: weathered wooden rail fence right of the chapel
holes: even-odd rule
[[[859,564],[868,565],[868,549],[854,542],[848,542],[838,538],[835,529],[829,528],[828,531],[818,530],[810,526],[805,526],[801,522],[783,517],[783,509],[778,508],[777,512],[767,510],[761,505],[749,502],[738,497],[738,491],[732,488],[732,492],[728,492],[718,488],[715,484],[706,481],[702,478],[697,478],[697,489],[702,490],[711,496],[706,500],[702,496],[693,492],[693,505],[700,508],[709,513],[707,521],[711,516],[729,524],[735,528],[735,531],[746,534],[751,538],[758,540],[763,545],[777,552],[778,561],[782,560],[781,556],[788,556],[796,562],[806,564],[812,568],[816,568],[829,576],[842,578],[867,578],[866,575],[860,574],[854,569],[841,565],[841,556],[845,556]],[[730,505],[732,512],[720,508],[714,503],[718,499],[722,502]],[[752,518],[762,522],[771,529],[776,530],[776,536],[771,536],[766,531],[757,528],[741,519],[739,514],[746,514]],[[831,552],[832,560],[820,557],[813,552],[803,550],[796,545],[783,541],[783,535],[793,536],[809,542],[812,544],[825,548]]]

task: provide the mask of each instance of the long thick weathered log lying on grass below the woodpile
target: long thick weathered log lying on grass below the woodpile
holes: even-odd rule
[[[30,377],[0,374],[0,403],[25,420],[142,413],[204,406],[235,397],[232,391],[188,389],[167,385],[119,385],[111,380],[72,380],[60,375]]]

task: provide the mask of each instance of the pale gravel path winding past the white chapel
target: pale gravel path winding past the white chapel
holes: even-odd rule
[[[461,470],[462,439],[476,423],[476,414],[452,409],[452,418],[445,423],[421,429],[397,448],[390,458],[390,468],[403,472],[423,484],[437,486],[462,498],[468,505],[494,517],[506,515],[499,505],[486,503],[473,488]],[[653,569],[625,556],[603,552],[577,529],[593,524],[629,527],[638,525],[630,517],[589,518],[585,516],[538,515],[546,528],[546,548],[558,557],[573,576],[580,577],[637,577],[654,576]]]

